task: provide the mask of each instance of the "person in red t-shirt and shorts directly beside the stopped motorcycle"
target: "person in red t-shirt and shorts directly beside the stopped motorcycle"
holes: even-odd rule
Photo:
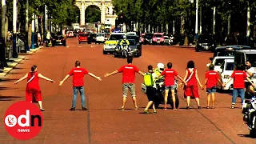
[[[171,91],[171,96],[174,102],[174,110],[177,110],[176,106],[175,106],[175,89],[177,88],[175,85],[175,76],[178,77],[180,80],[182,80],[182,82],[185,83],[186,85],[186,81],[184,81],[184,79],[178,75],[178,73],[176,72],[176,70],[172,69],[173,64],[171,62],[167,63],[167,69],[163,70],[161,75],[165,76],[165,107],[163,108],[164,110],[167,110],[167,99],[168,99],[168,95],[169,95],[169,90]]]

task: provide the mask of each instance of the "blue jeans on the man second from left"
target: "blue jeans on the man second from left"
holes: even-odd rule
[[[79,90],[80,95],[81,95],[82,108],[86,107],[86,96],[85,96],[85,88],[84,88],[84,86],[73,86],[72,108],[75,108],[75,106],[76,106],[78,90]]]

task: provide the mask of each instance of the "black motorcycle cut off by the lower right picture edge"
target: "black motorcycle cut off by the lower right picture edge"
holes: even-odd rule
[[[250,130],[250,136],[256,138],[256,96],[246,99],[242,105],[243,121]]]

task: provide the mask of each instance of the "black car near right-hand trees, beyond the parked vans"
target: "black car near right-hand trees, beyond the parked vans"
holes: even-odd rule
[[[216,42],[214,40],[213,35],[199,35],[198,36],[198,41],[197,45],[195,46],[195,51],[200,51],[200,50],[210,50],[214,52],[216,48]]]

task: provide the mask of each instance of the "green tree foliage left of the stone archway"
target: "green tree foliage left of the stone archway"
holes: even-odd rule
[[[29,18],[32,20],[33,13],[37,16],[43,16],[47,7],[51,21],[58,26],[70,25],[77,22],[79,9],[74,6],[74,0],[29,0]],[[25,29],[26,21],[26,0],[17,1],[18,8],[18,26]],[[2,8],[1,8],[2,9]],[[2,12],[2,10],[1,10]],[[12,22],[13,0],[6,0],[6,18]]]

